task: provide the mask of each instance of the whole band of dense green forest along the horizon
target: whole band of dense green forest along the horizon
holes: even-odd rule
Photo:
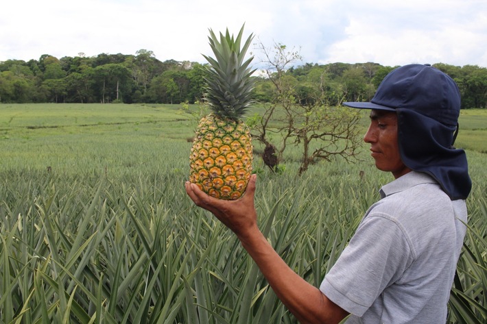
[[[487,68],[476,65],[433,64],[458,83],[462,108],[487,108]],[[293,66],[285,71],[294,84],[296,100],[319,84],[326,103],[369,100],[394,66],[377,63],[331,63]],[[102,53],[94,57],[55,58],[0,62],[0,103],[194,103],[204,93],[204,65],[198,62],[157,60],[152,51],[136,55]],[[268,77],[259,76],[258,101],[272,100]],[[264,74],[263,74],[264,75]]]

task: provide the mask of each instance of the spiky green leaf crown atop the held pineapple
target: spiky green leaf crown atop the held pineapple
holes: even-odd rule
[[[244,61],[254,36],[250,34],[241,47],[244,26],[237,38],[230,36],[228,28],[225,35],[219,34],[219,38],[211,29],[209,32],[208,39],[215,58],[203,55],[210,64],[205,99],[215,114],[238,121],[254,102],[251,92],[255,80],[250,78],[255,71],[250,68],[254,57]]]

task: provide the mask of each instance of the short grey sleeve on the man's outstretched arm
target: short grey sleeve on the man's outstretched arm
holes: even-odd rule
[[[362,316],[412,260],[412,245],[401,223],[387,214],[368,214],[320,290],[347,312]]]

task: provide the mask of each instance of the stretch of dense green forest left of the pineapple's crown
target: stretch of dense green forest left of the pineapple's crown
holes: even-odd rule
[[[202,94],[200,74],[193,71],[199,70],[198,66],[174,60],[161,62],[145,49],[136,55],[102,53],[87,58],[80,53],[60,60],[51,55],[27,63],[8,60],[0,62],[0,102],[109,103],[118,99],[125,103],[193,103]],[[171,89],[169,97],[148,95],[152,80],[165,71],[181,74],[171,79],[177,88]]]

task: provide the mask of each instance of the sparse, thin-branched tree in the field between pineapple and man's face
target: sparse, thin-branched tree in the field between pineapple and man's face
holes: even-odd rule
[[[361,141],[359,114],[328,105],[326,71],[315,73],[312,81],[303,84],[287,73],[301,60],[298,50],[281,43],[268,49],[262,42],[257,48],[263,53],[263,74],[274,86],[272,101],[265,104],[261,116],[250,121],[252,136],[265,145],[264,163],[274,170],[289,144],[302,148],[299,175],[319,160],[335,156],[355,160]],[[276,136],[271,140],[270,134]]]

